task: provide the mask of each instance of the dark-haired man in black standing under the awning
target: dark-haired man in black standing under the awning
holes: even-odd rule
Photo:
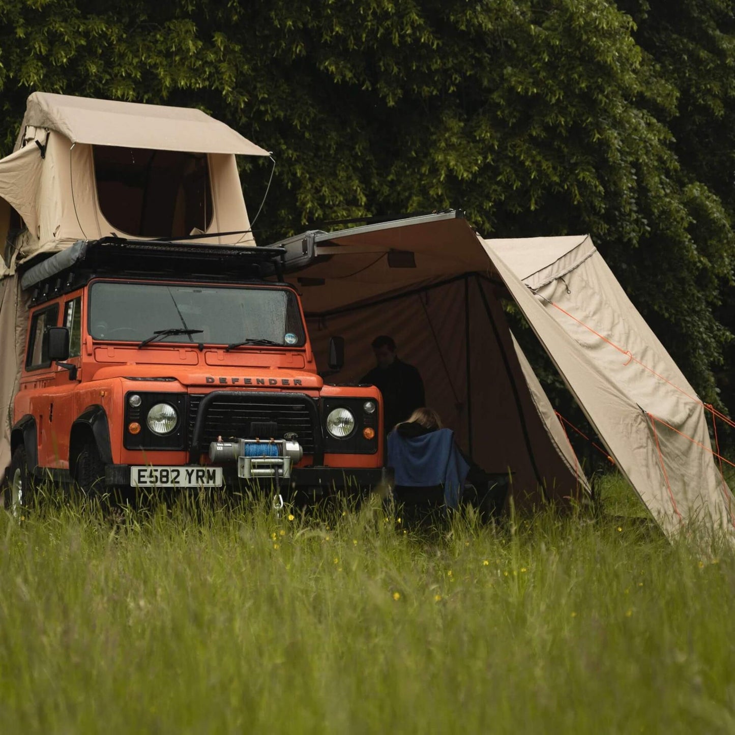
[[[385,433],[408,420],[416,410],[426,404],[423,380],[416,368],[401,362],[395,354],[392,337],[382,334],[373,340],[376,367],[362,378],[361,383],[374,385],[383,395]]]

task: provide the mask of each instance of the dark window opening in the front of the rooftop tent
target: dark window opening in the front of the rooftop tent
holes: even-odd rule
[[[94,146],[99,208],[118,234],[182,237],[212,222],[206,154]]]

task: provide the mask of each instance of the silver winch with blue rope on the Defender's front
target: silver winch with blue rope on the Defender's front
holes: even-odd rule
[[[237,462],[237,476],[252,478],[290,478],[293,465],[304,456],[298,442],[285,439],[235,439],[209,445],[213,465]]]

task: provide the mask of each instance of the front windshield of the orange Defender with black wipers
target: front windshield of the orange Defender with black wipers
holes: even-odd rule
[[[268,340],[298,347],[305,341],[292,291],[243,286],[98,282],[91,288],[89,331],[96,340],[139,344],[161,332],[151,346]]]

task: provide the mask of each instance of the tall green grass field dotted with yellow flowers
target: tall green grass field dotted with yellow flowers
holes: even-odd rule
[[[594,519],[425,537],[1,515],[2,734],[735,731],[735,554],[670,545],[618,481]]]

